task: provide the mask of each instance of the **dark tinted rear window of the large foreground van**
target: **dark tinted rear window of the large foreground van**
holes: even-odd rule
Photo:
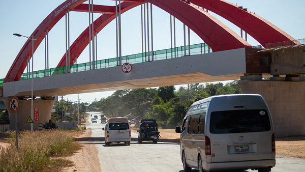
[[[210,133],[244,133],[271,129],[266,110],[214,111],[210,116]]]

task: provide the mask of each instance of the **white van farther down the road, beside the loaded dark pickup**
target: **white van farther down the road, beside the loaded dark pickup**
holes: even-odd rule
[[[105,144],[109,146],[113,142],[125,142],[130,145],[131,131],[127,118],[110,118],[106,122],[105,128]]]

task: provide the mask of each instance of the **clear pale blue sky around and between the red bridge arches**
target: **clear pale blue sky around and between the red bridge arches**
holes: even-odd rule
[[[13,36],[18,33],[24,36],[31,36],[36,27],[47,17],[57,6],[65,2],[64,0],[0,0],[0,78],[5,78],[13,61],[26,38]],[[291,35],[295,39],[305,38],[304,26],[304,0],[228,0],[228,2],[248,8],[255,14],[265,18],[275,24],[281,30]],[[87,2],[85,2],[87,3]],[[114,6],[115,1],[94,0],[94,4]],[[98,18],[101,14],[94,14]],[[232,23],[214,14],[219,20],[240,35],[240,29]],[[141,11],[136,7],[124,13],[122,22],[122,55],[141,53]],[[153,6],[153,31],[154,50],[170,48],[170,15]],[[88,26],[88,13],[70,13],[70,45]],[[149,23],[150,25],[150,23]],[[150,29],[149,29],[150,32]],[[191,44],[202,43],[203,41],[191,31]],[[115,22],[108,24],[98,34],[98,60],[115,58]],[[256,40],[248,35],[248,42],[260,45]],[[183,24],[176,20],[176,45],[183,46]],[[40,44],[34,54],[34,70],[45,68],[45,48],[44,41]],[[65,17],[62,18],[49,32],[49,67],[57,66],[59,60],[65,53]],[[88,47],[80,55],[77,63],[89,62]],[[24,71],[26,72],[26,70]],[[80,94],[81,102],[92,102],[110,96],[113,92],[100,92]],[[67,95],[64,98],[76,101],[78,95]]]

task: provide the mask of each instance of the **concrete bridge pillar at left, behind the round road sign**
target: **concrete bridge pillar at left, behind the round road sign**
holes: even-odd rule
[[[8,100],[6,100],[4,103],[7,107],[8,106]],[[17,127],[18,130],[31,130],[31,123],[26,123],[28,117],[31,117],[31,100],[19,100],[20,102],[20,109],[17,112]],[[38,123],[47,123],[51,119],[51,111],[53,108],[53,105],[55,103],[55,100],[34,100],[33,101],[34,108],[39,107],[39,121],[34,121],[34,130],[42,129],[41,127],[38,127]],[[10,115],[10,129],[15,130],[15,113],[11,113],[9,111]]]

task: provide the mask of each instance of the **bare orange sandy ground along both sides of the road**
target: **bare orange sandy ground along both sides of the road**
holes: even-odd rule
[[[160,131],[160,141],[179,141],[179,133],[175,133],[174,129],[159,130]],[[136,130],[133,130],[136,132]],[[78,132],[80,133],[80,132]],[[74,162],[74,166],[67,167],[63,169],[63,172],[70,171],[93,171],[98,172],[101,169],[97,168],[100,166],[98,156],[96,154],[97,149],[93,141],[90,140],[91,130],[86,130],[80,135],[74,134],[73,137],[76,138],[78,144],[82,145],[82,149],[79,150],[72,156],[66,157],[67,160]],[[1,142],[0,146],[6,147],[8,144],[6,142]],[[291,136],[277,138],[276,141],[276,153],[277,157],[293,157],[299,159],[305,159],[305,136]]]

